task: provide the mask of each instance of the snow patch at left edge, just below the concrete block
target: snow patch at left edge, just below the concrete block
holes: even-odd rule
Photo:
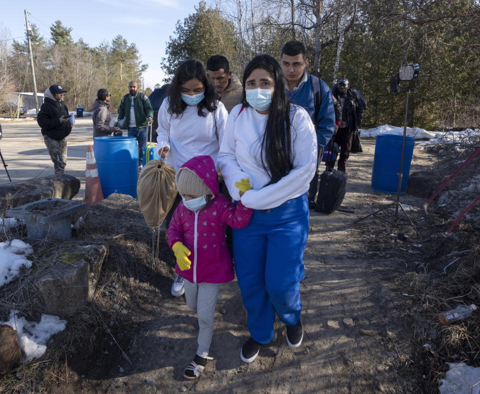
[[[0,287],[19,276],[22,267],[32,267],[26,257],[32,253],[32,247],[19,239],[0,242]]]

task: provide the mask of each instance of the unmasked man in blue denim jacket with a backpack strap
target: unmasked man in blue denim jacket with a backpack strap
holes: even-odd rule
[[[310,189],[308,190],[309,208],[314,209],[323,147],[333,135],[335,111],[332,92],[328,85],[320,78],[307,72],[308,59],[306,54],[307,50],[302,42],[288,41],[283,46],[280,64],[288,84],[287,98],[306,109],[317,131],[317,171],[310,182]]]

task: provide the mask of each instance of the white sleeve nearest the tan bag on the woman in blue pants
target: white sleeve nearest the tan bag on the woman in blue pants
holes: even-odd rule
[[[237,109],[236,109],[237,108]],[[248,174],[242,171],[235,155],[235,137],[234,129],[237,121],[240,104],[234,107],[228,115],[227,123],[221,139],[220,151],[218,152],[218,162],[220,171],[225,180],[228,192],[234,200],[240,200],[240,190],[235,186],[242,178],[248,178]]]

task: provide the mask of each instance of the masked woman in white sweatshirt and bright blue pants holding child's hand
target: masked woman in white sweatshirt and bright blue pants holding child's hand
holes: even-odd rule
[[[273,340],[275,313],[286,325],[290,347],[303,339],[300,281],[317,141],[308,113],[287,101],[272,56],[250,61],[243,86],[243,104],[230,112],[218,160],[231,196],[254,209],[250,224],[233,230],[235,271],[251,335],[240,357],[250,363],[261,345]]]

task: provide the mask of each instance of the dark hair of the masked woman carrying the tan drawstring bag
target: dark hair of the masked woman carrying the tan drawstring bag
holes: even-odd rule
[[[170,100],[168,113],[171,115],[175,114],[176,117],[179,117],[183,111],[185,111],[185,108],[187,108],[187,104],[182,100],[180,86],[193,78],[197,78],[205,86],[205,97],[197,105],[198,116],[207,116],[203,108],[208,112],[213,112],[217,109],[217,101],[220,99],[220,96],[215,91],[207,69],[200,60],[190,59],[180,64],[168,88],[167,95]]]

